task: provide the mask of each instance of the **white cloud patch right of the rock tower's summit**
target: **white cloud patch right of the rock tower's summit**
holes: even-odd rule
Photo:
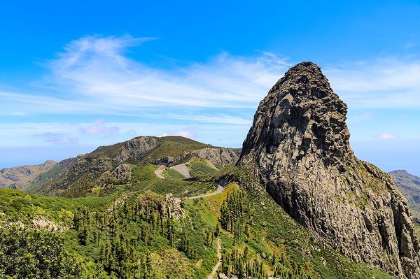
[[[333,90],[353,108],[420,108],[420,61],[374,59],[326,68]]]

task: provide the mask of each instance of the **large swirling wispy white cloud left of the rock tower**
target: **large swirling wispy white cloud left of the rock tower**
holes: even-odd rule
[[[36,94],[0,92],[29,113],[135,113],[142,108],[255,108],[288,69],[286,59],[223,52],[207,63],[155,69],[125,55],[148,38],[88,36],[69,43]],[[43,92],[55,92],[43,94]],[[29,98],[26,98],[28,95]],[[34,104],[36,104],[34,106]],[[3,113],[6,113],[7,108]]]

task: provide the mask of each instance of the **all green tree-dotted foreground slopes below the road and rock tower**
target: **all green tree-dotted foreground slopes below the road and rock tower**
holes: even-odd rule
[[[160,179],[156,168],[132,166],[129,183],[98,187],[91,196],[77,199],[0,190],[0,226],[22,220],[29,227],[42,216],[63,230],[2,229],[0,259],[12,261],[15,252],[25,262],[22,257],[29,253],[34,264],[20,267],[6,262],[14,267],[0,265],[0,273],[7,269],[10,277],[6,278],[25,278],[22,272],[28,270],[38,274],[45,255],[51,259],[45,274],[67,263],[63,267],[67,277],[54,278],[207,278],[218,262],[216,248],[221,241],[219,271],[227,276],[393,278],[318,243],[244,169],[225,168],[223,176],[235,183],[221,194],[186,200],[176,208],[163,194],[179,196],[186,189],[206,192],[216,183]],[[28,244],[16,248],[13,243],[22,239],[28,239]],[[44,247],[53,248],[50,252],[55,254],[45,254]]]

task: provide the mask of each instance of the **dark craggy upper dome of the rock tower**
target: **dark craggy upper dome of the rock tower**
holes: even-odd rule
[[[353,159],[346,126],[346,104],[335,94],[321,68],[302,62],[288,70],[260,103],[254,127],[248,133],[242,155],[255,145],[268,153],[282,143],[288,162],[309,153],[344,171],[343,160]],[[260,131],[264,132],[260,132]]]

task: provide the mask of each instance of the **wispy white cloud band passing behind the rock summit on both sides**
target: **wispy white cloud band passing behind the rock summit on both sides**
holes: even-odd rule
[[[48,64],[49,73],[31,93],[0,92],[1,114],[135,115],[151,108],[169,113],[172,108],[255,109],[294,64],[269,52],[255,52],[253,57],[223,52],[205,63],[159,69],[127,55],[129,48],[152,39],[87,36],[72,41]],[[420,108],[418,60],[375,59],[323,68],[333,89],[352,108]],[[229,113],[221,116],[193,115],[203,121],[245,122]],[[188,118],[183,113],[175,117]]]

